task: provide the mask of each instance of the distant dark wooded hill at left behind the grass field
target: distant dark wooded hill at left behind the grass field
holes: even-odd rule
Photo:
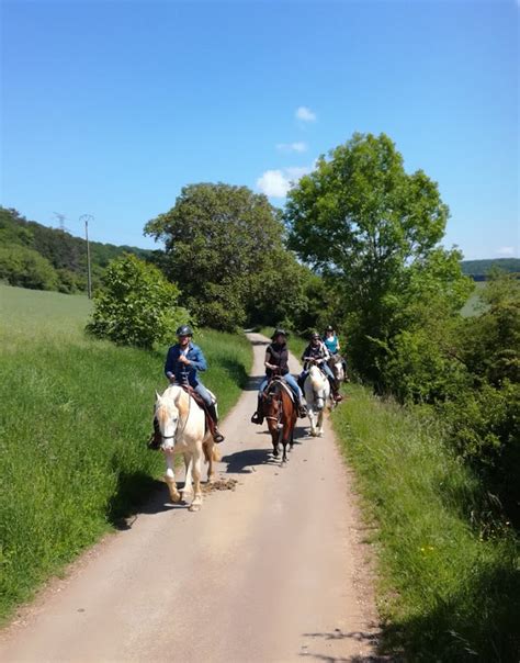
[[[90,243],[94,288],[109,262],[123,252],[142,259],[154,255],[133,246]],[[86,292],[87,241],[0,206],[0,281],[36,290]]]

